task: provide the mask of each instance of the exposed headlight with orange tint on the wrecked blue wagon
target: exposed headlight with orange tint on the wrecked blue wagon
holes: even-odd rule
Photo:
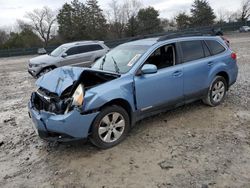
[[[68,113],[75,106],[81,106],[84,101],[84,87],[82,84],[79,84],[76,88],[74,94],[72,95],[71,103],[69,103],[68,107],[66,108],[65,114]]]

